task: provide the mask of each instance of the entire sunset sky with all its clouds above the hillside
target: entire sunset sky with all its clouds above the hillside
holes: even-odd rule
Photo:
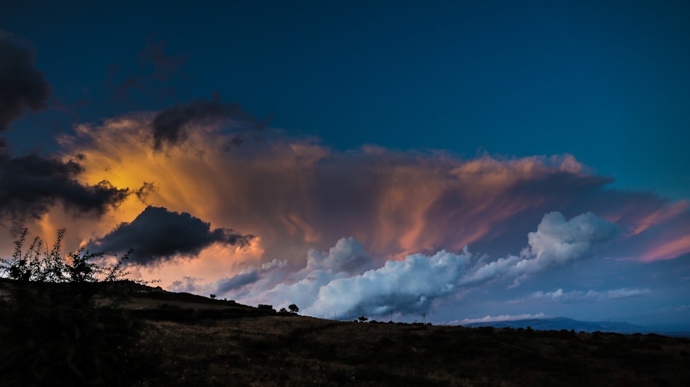
[[[690,329],[684,1],[3,2],[0,253],[347,319]]]

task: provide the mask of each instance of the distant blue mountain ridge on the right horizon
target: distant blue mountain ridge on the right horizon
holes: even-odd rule
[[[648,326],[637,326],[620,321],[578,321],[566,317],[551,319],[521,319],[511,321],[489,321],[463,326],[493,326],[494,328],[527,328],[534,330],[575,330],[575,332],[612,332],[612,333],[660,333],[659,330]]]

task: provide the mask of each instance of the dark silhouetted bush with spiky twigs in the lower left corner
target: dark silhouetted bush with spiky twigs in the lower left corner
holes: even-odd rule
[[[3,386],[131,385],[147,362],[137,348],[141,324],[119,308],[128,255],[110,267],[98,263],[103,252],[63,257],[65,230],[52,250],[37,237],[23,251],[27,233],[0,266],[13,280],[0,316]]]

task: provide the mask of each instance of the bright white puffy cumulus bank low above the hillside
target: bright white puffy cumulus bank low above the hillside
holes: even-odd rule
[[[544,215],[537,231],[528,236],[529,247],[519,257],[509,256],[486,262],[476,259],[465,247],[460,254],[440,250],[404,259],[387,260],[371,268],[375,257],[364,251],[354,238],[342,238],[326,251],[308,253],[306,267],[283,276],[273,288],[266,283],[260,290],[247,284],[258,281],[257,270],[247,270],[233,278],[225,288],[231,298],[250,304],[286,306],[297,303],[307,315],[344,317],[348,312],[371,316],[426,312],[435,301],[449,295],[460,296],[468,288],[491,279],[522,278],[569,264],[593,255],[595,244],[617,235],[618,228],[591,213],[567,221],[558,212]],[[471,266],[472,263],[474,266]],[[359,269],[357,269],[359,268]],[[242,287],[242,294],[233,288]],[[618,297],[622,297],[619,291]],[[611,293],[611,297],[615,297]]]

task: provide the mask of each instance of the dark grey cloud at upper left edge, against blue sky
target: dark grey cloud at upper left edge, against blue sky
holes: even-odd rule
[[[24,110],[47,107],[50,84],[34,67],[34,54],[26,46],[28,43],[0,30],[0,131],[7,130]]]

